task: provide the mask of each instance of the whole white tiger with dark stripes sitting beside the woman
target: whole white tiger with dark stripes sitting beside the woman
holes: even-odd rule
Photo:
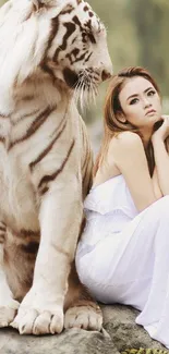
[[[101,327],[74,265],[92,182],[75,99],[85,105],[110,75],[105,27],[83,0],[1,8],[0,327]]]

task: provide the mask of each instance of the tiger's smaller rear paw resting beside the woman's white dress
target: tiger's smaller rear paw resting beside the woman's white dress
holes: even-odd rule
[[[83,328],[100,331],[102,327],[102,314],[99,306],[74,306],[67,310],[64,328]]]

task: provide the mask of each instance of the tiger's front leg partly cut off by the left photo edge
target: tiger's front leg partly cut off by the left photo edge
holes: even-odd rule
[[[20,303],[12,296],[3,268],[3,245],[0,244],[0,328],[8,327],[15,317]]]

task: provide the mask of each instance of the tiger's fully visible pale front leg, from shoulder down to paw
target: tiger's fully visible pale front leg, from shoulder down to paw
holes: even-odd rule
[[[41,202],[40,245],[33,286],[21,303],[12,327],[21,334],[60,333],[68,277],[82,220],[81,193],[68,183],[51,187]]]

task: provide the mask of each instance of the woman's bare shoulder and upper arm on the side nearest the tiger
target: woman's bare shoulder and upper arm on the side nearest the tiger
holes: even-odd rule
[[[158,199],[149,175],[144,146],[137,134],[124,132],[111,139],[108,150],[110,168],[114,162],[123,174],[140,211]]]

